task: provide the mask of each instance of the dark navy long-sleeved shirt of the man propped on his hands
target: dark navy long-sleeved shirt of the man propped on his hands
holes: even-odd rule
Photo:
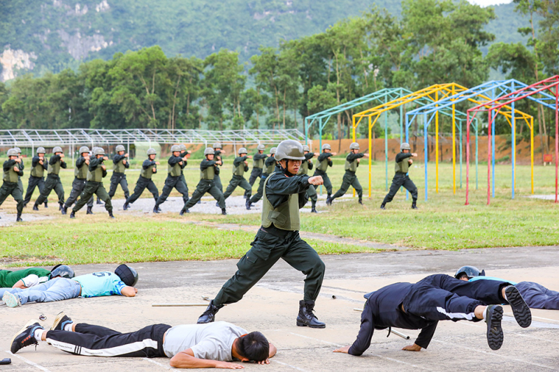
[[[404,313],[400,308],[412,285],[412,283],[395,283],[372,293],[361,313],[361,329],[359,329],[356,341],[349,348],[349,354],[363,354],[371,344],[372,333],[375,329],[388,327],[421,329],[415,343],[421,348],[427,348],[435,334],[438,321],[425,320],[419,316]]]

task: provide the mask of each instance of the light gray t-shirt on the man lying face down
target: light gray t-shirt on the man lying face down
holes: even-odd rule
[[[247,333],[245,329],[228,322],[177,325],[168,329],[163,350],[170,358],[179,352],[192,349],[196,358],[231,362],[233,341]]]

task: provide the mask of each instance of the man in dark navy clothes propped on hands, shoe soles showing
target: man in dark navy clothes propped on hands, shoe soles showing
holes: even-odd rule
[[[436,274],[414,284],[387,285],[365,298],[356,341],[334,352],[361,355],[369,348],[375,329],[390,327],[421,329],[415,343],[402,349],[419,351],[429,345],[439,320],[485,320],[489,347],[499,350],[503,341],[500,306],[503,303],[511,305],[518,325],[526,328],[532,323],[530,308],[518,290],[503,281],[467,282]]]

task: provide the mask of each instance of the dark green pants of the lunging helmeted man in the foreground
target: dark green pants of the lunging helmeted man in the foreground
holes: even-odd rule
[[[238,302],[280,258],[307,276],[304,299],[317,299],[324,278],[324,262],[317,251],[299,237],[298,231],[285,231],[282,237],[277,237],[260,228],[250,245],[252,248],[237,263],[237,272],[219,290],[214,304]]]

